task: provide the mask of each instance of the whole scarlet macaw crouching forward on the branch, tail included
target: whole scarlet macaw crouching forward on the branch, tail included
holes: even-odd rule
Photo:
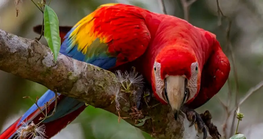
[[[182,105],[197,108],[217,94],[230,71],[214,34],[180,18],[136,6],[101,5],[74,27],[60,27],[60,37],[60,53],[68,57],[110,71],[134,66],[151,84],[154,96],[171,106],[175,119]],[[55,114],[41,123],[46,127],[45,138],[57,134],[86,108],[85,103],[74,98],[61,94],[58,97]],[[48,90],[37,103],[45,110],[44,103],[52,99],[50,115],[54,98],[55,94]],[[38,123],[39,117],[43,115],[34,104],[0,139],[14,138],[21,122]],[[195,121],[206,137],[204,123],[198,117]]]

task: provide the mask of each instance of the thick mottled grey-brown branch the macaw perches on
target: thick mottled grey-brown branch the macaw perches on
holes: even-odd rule
[[[113,95],[109,89],[118,85],[114,73],[63,54],[59,54],[55,62],[51,50],[36,40],[0,30],[0,70],[118,115],[115,103],[111,103]],[[124,98],[129,100],[128,96],[124,95]],[[149,105],[156,103],[154,100]],[[120,99],[120,104],[122,109],[127,102]],[[150,109],[144,105],[142,113],[151,119],[138,128],[152,134],[154,138],[202,138],[202,133],[196,131],[195,126],[189,127],[184,114],[179,115],[180,122],[175,122],[167,105],[157,105]],[[130,117],[125,120],[134,125],[135,119],[131,117],[136,115],[132,114],[134,111],[130,109],[120,112],[121,117]]]

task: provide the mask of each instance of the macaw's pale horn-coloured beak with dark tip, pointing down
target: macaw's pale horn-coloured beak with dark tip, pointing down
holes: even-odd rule
[[[177,120],[179,110],[186,101],[186,81],[186,78],[182,76],[165,78],[165,96],[174,112],[175,120]]]

